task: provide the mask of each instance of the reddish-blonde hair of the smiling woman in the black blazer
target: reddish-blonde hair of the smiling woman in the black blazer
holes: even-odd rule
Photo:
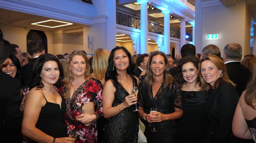
[[[208,55],[207,57],[203,58],[203,59],[199,62],[199,67],[198,67],[198,69],[199,69],[200,72],[198,72],[198,74],[199,74],[199,78],[200,78],[201,83],[202,83],[202,86],[201,86],[201,89],[200,89],[200,90],[204,90],[204,89],[207,88],[207,86],[208,86],[208,84],[204,81],[203,76],[202,76],[202,74],[201,74],[201,64],[202,64],[203,61],[207,61],[207,60],[212,61],[212,62],[216,65],[216,67],[218,68],[218,70],[222,70],[222,74],[223,74],[222,77],[218,78],[218,79],[214,82],[213,87],[212,87],[213,89],[216,89],[216,88],[219,86],[219,81],[220,81],[220,79],[221,79],[221,80],[224,80],[224,81],[227,81],[227,82],[230,82],[234,87],[236,86],[236,84],[233,83],[233,82],[229,79],[229,77],[228,77],[228,72],[227,72],[227,68],[226,68],[224,62],[222,61],[222,59],[220,59],[220,58],[219,58],[218,56],[216,56],[216,55],[210,54],[210,55]]]

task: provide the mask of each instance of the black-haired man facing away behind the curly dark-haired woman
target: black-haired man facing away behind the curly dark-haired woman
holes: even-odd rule
[[[196,47],[192,44],[185,44],[181,47],[181,53],[179,53],[179,56],[185,57],[185,56],[196,56]],[[175,63],[176,64],[176,63]],[[176,64],[177,65],[177,64]],[[170,73],[173,77],[177,75],[176,73],[176,67],[170,69]]]

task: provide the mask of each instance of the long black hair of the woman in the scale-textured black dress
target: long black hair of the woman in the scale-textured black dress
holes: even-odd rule
[[[109,55],[109,58],[108,58],[108,69],[107,69],[107,72],[106,72],[106,76],[105,76],[105,80],[111,80],[114,87],[117,88],[117,70],[116,68],[114,68],[113,70],[113,67],[114,67],[114,53],[116,50],[124,50],[124,52],[126,53],[126,55],[128,56],[129,58],[129,67],[127,68],[126,72],[127,74],[129,74],[131,76],[131,78],[133,80],[136,81],[135,77],[132,75],[132,71],[135,67],[135,63],[131,60],[131,54],[129,53],[129,51],[125,48],[125,47],[115,47],[114,49],[111,50],[111,53]]]

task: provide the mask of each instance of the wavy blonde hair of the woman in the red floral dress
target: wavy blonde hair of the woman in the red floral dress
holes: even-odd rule
[[[65,70],[64,70],[65,78],[63,79],[63,84],[64,84],[65,87],[67,87],[67,92],[65,93],[64,98],[68,98],[68,96],[70,94],[69,89],[71,88],[71,86],[72,86],[71,83],[74,80],[74,78],[72,76],[71,69],[70,69],[70,62],[72,61],[74,56],[82,56],[85,60],[86,69],[85,69],[85,73],[84,73],[84,79],[88,80],[91,77],[91,75],[90,75],[90,65],[89,65],[89,62],[88,62],[88,59],[87,59],[86,55],[81,50],[72,51],[66,59],[66,66],[65,66]]]

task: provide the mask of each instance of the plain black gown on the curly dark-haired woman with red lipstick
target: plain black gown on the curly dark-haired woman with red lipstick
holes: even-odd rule
[[[180,143],[201,143],[206,132],[205,91],[183,91],[183,116],[178,120]]]

